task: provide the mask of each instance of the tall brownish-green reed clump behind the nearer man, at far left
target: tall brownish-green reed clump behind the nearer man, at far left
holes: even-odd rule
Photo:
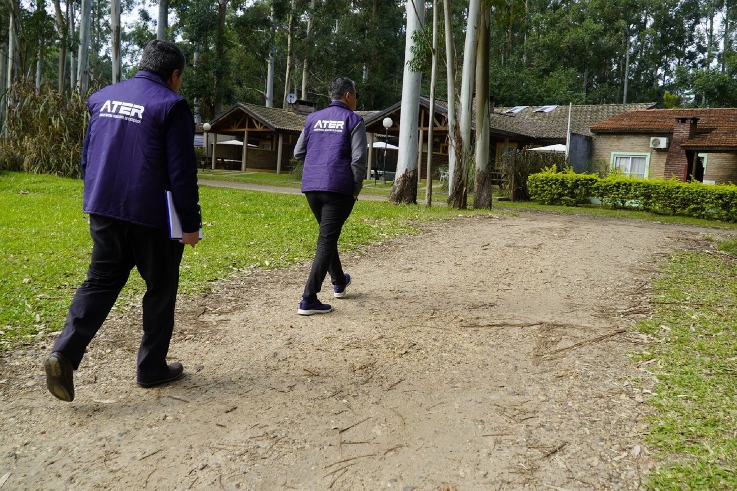
[[[5,94],[10,101],[0,139],[0,170],[80,177],[80,160],[89,119],[86,97],[57,93],[32,80],[18,80]]]

